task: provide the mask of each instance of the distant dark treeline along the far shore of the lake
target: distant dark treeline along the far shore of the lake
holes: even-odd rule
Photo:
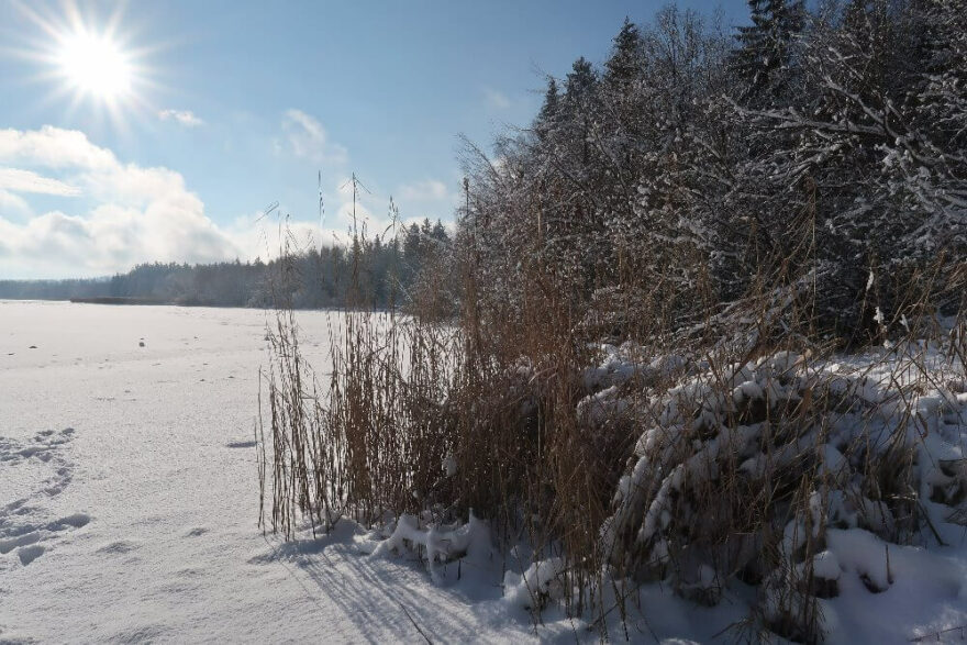
[[[322,246],[282,260],[208,265],[143,264],[111,278],[0,280],[0,298],[136,299],[203,307],[341,307],[348,300],[384,309],[401,303],[422,267],[445,253],[451,237],[437,220],[403,227],[396,238],[357,238],[348,248]]]

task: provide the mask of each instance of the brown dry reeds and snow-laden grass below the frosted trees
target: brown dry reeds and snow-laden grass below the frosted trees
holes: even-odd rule
[[[458,249],[425,270],[405,313],[349,303],[324,383],[294,314],[278,312],[269,436],[259,429],[266,526],[292,537],[303,518],[327,531],[344,516],[445,523],[473,510],[504,544],[564,558],[563,601],[598,616],[602,637],[634,585],[667,580],[714,604],[738,579],[759,601],[737,637],[818,642],[819,600],[837,593],[827,531],[929,543],[936,509],[964,513],[967,468],[935,461],[924,441],[965,423],[924,408],[931,392],[967,391],[963,263],[874,283],[869,325],[844,338],[816,329],[808,262],[767,263],[724,307],[697,288],[682,321],[633,275],[589,305],[537,259],[501,299],[473,240]],[[879,348],[843,363],[845,346]]]

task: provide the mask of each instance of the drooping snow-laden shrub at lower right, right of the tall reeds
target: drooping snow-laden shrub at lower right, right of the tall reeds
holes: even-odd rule
[[[820,637],[816,599],[835,597],[844,571],[885,590],[882,545],[941,541],[936,526],[957,520],[967,494],[967,393],[958,378],[937,382],[943,369],[924,356],[707,359],[660,393],[645,390],[635,414],[649,422],[601,531],[612,567],[712,604],[732,578],[760,585],[766,624]],[[879,546],[844,547],[857,531]]]

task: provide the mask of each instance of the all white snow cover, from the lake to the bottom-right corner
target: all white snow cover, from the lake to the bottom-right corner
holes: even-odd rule
[[[330,314],[298,315],[324,374]],[[500,555],[476,519],[264,537],[253,424],[265,324],[255,310],[0,301],[0,643],[599,638],[554,602],[535,627],[530,608],[558,594],[562,563]],[[608,378],[627,377],[612,367]],[[737,383],[736,398],[760,396]],[[967,534],[941,531],[951,546],[831,531],[816,563],[842,589],[822,601],[829,640],[967,635]],[[730,583],[704,608],[652,583],[629,600],[626,631],[609,612],[609,635],[730,641],[755,592]]]

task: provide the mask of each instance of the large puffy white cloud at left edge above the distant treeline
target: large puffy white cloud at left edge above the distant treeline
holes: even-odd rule
[[[29,204],[24,213],[20,203],[20,214],[27,215],[23,222],[12,221],[5,208],[0,211],[0,275],[99,275],[140,262],[229,259],[242,251],[204,214],[204,204],[180,174],[123,164],[81,132],[52,126],[0,131],[0,164],[14,163],[60,177],[13,168],[3,175],[10,184],[33,181],[48,193],[77,186],[87,203],[79,203],[77,212],[36,216]]]

